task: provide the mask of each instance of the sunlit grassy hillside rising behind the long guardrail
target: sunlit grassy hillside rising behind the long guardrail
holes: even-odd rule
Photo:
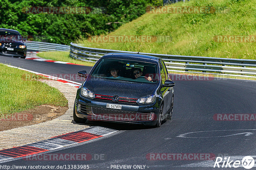
[[[253,0],[191,0],[170,6],[213,6],[213,13],[146,13],[109,35],[165,35],[170,42],[92,43],[83,46],[149,53],[256,59],[256,42],[216,42],[218,35],[256,35]]]

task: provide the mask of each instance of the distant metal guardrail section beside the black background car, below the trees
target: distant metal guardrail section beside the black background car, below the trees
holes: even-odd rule
[[[70,46],[37,41],[24,41],[28,50],[36,51],[69,51]]]

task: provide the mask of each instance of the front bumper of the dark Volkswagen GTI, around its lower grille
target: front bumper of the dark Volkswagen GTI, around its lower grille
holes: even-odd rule
[[[112,103],[87,98],[79,98],[75,102],[76,116],[91,121],[155,125],[159,116],[159,108],[155,104]],[[122,105],[122,109],[109,109],[107,103]]]

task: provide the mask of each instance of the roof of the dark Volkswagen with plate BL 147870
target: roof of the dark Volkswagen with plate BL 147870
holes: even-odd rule
[[[159,57],[154,57],[150,55],[130,54],[130,53],[108,53],[102,56],[101,58],[134,60],[134,61],[149,62],[149,63],[158,63],[158,60],[160,59]]]

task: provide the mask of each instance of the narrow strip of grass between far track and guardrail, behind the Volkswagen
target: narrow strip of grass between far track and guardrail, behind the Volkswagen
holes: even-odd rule
[[[94,66],[95,64],[94,62],[87,62],[87,61],[73,59],[69,57],[68,51],[41,52],[41,53],[37,53],[37,56],[42,57],[44,59],[50,59],[55,61],[65,61],[65,62],[81,64],[85,66]]]

